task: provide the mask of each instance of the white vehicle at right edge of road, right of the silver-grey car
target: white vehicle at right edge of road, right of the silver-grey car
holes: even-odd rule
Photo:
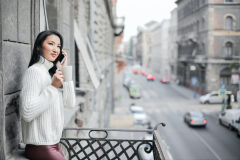
[[[236,120],[240,117],[240,109],[227,109],[219,114],[219,123],[227,126],[230,130],[237,128]]]

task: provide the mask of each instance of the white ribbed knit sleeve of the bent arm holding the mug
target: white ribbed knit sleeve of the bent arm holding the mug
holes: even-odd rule
[[[30,122],[47,110],[56,100],[58,90],[52,85],[42,88],[43,78],[37,69],[29,68],[24,74],[21,90],[21,114]]]

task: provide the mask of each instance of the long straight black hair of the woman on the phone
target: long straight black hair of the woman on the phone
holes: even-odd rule
[[[46,30],[46,31],[42,31],[38,34],[38,36],[35,40],[35,43],[34,43],[31,60],[28,65],[28,67],[30,67],[39,61],[40,56],[44,57],[43,52],[42,52],[43,41],[47,38],[47,36],[50,36],[53,34],[59,37],[61,46],[60,46],[60,54],[58,55],[56,60],[53,62],[53,67],[48,70],[48,72],[51,76],[53,76],[56,73],[56,69],[57,69],[56,64],[59,61],[60,55],[62,55],[62,48],[63,48],[62,35],[55,30]],[[39,50],[38,50],[38,48],[39,48]]]

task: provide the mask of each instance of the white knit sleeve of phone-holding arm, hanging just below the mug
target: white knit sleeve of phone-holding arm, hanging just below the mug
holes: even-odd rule
[[[73,81],[63,82],[63,106],[73,108],[76,104],[75,90]]]

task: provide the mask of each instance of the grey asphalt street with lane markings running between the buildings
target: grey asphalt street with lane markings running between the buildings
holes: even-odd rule
[[[140,85],[140,99],[129,98],[121,82],[124,74]],[[147,81],[141,74],[132,74],[130,68],[125,68],[119,77],[121,99],[115,104],[115,113],[129,112],[130,104],[135,103],[145,109],[152,127],[158,122],[166,123],[165,127],[159,126],[158,131],[172,159],[240,159],[240,139],[236,132],[218,122],[221,104],[200,104],[192,91],[174,82],[162,84],[158,77],[155,81]],[[188,126],[183,119],[187,111],[202,111],[208,121],[206,128]],[[135,125],[133,128],[146,129],[147,126]],[[130,138],[139,139],[145,134],[133,133]],[[123,136],[129,138],[129,134]]]

